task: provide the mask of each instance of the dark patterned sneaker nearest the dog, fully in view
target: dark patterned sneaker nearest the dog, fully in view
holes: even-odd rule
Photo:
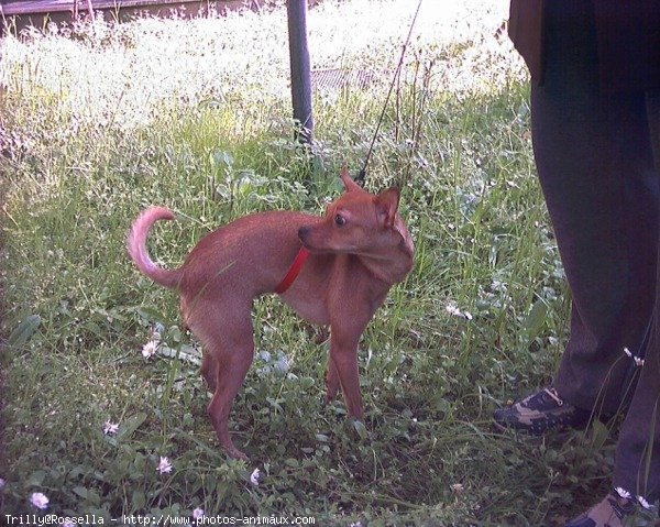
[[[582,428],[590,418],[590,410],[564,403],[553,387],[528,395],[493,413],[493,421],[499,430],[513,428],[534,436],[550,429]]]

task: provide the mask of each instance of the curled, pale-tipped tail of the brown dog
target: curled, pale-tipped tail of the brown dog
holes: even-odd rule
[[[164,270],[158,267],[146,251],[146,235],[151,227],[158,220],[173,220],[174,213],[166,207],[150,207],[143,210],[133,222],[127,246],[131,260],[135,263],[140,272],[156,284],[175,289],[182,279],[180,270]]]

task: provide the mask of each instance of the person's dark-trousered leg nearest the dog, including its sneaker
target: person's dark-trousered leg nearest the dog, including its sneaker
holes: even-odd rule
[[[532,142],[573,301],[557,392],[519,405],[524,416],[498,410],[510,417],[501,424],[524,429],[547,408],[559,410],[554,395],[569,403],[561,409],[568,417],[558,414],[549,426],[572,425],[570,406],[616,411],[628,372],[623,349],[637,352],[654,299],[658,180],[644,95],[601,94],[591,1],[547,6]],[[542,418],[536,424],[530,431],[544,431]]]

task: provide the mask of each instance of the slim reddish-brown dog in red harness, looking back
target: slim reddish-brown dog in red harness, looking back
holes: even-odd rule
[[[184,320],[205,348],[201,373],[213,392],[209,417],[232,458],[246,459],[231,441],[228,419],[254,353],[252,301],[266,293],[277,292],[310,322],[330,326],[327,400],[341,384],[349,414],[363,418],[358,342],[392,285],[413,268],[413,240],[397,213],[396,188],[374,196],[348,171],[341,178],[345,193],[323,218],[245,216],[205,237],[173,271],[157,267],[146,252],[152,224],[174,219],[168,209],[143,211],[129,233],[138,268],[180,293]]]

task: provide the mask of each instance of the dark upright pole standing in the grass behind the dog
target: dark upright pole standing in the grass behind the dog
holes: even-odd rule
[[[311,67],[307,46],[307,0],[287,0],[289,59],[292,68],[292,99],[296,139],[311,142],[314,118],[311,113]]]

